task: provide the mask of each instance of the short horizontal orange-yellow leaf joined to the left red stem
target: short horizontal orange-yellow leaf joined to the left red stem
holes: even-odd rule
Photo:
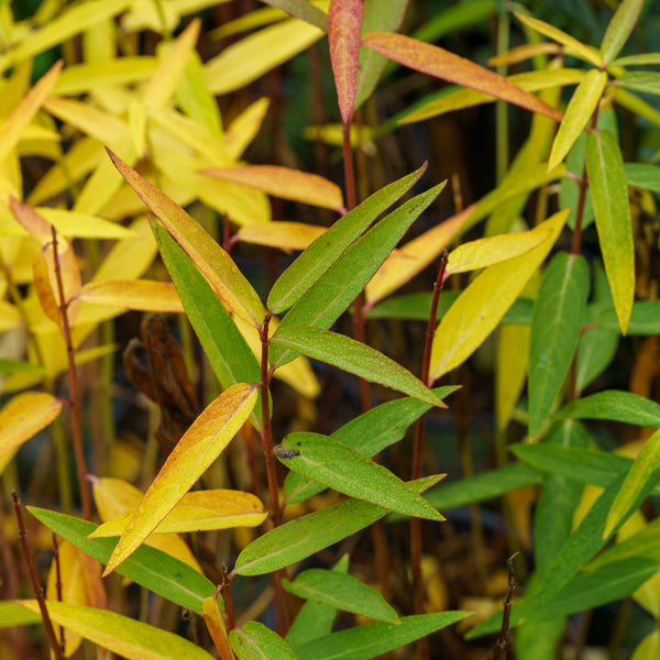
[[[169,282],[147,279],[90,282],[82,287],[79,297],[94,305],[121,307],[122,309],[184,312],[176,287]]]

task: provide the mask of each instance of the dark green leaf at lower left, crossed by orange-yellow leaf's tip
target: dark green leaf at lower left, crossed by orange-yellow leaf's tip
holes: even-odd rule
[[[29,506],[28,510],[63,539],[102,563],[108,562],[117,546],[116,538],[88,539],[97,528],[94,522],[34,506]],[[199,613],[204,600],[216,591],[210,580],[188,564],[147,546],[139,548],[117,572],[182,607]]]

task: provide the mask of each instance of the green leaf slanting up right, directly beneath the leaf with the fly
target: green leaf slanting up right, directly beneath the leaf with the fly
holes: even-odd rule
[[[410,482],[417,493],[438,483],[440,476]],[[237,559],[233,572],[263,575],[288,566],[323,548],[369,527],[387,515],[387,509],[362,499],[346,499],[320,512],[289,520],[256,538]]]

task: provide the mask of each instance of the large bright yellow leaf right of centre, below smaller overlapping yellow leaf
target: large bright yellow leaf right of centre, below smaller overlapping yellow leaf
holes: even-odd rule
[[[430,365],[432,381],[464,362],[495,329],[550,252],[566,216],[568,210],[560,211],[532,229],[547,235],[538,248],[486,268],[450,307],[436,330]]]

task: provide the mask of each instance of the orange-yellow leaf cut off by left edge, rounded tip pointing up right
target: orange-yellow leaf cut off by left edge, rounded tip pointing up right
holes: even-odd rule
[[[0,458],[45,429],[62,410],[62,402],[44,392],[15,396],[0,410]]]

